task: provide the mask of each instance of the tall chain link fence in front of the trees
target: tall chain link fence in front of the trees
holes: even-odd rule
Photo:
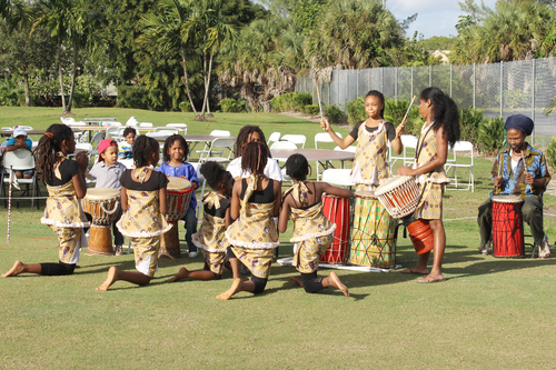
[[[381,91],[387,99],[411,100],[428,87],[448,93],[460,108],[483,109],[487,118],[525,114],[535,121],[533,142],[547,147],[556,133],[556,113],[546,117],[545,108],[556,97],[556,58],[493,64],[386,67],[363,70],[334,70],[330,83],[320,84],[325,104],[346,110],[349,101],[369,90]],[[296,92],[317,91],[312,77],[298,78]]]

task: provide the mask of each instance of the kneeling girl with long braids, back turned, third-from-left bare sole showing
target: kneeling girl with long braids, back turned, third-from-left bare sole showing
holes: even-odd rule
[[[259,294],[267,284],[274,249],[280,243],[274,218],[280,213],[281,204],[280,181],[264,174],[268,156],[266,143],[251,141],[246,144],[241,168],[250,176],[234,184],[230,214],[236,221],[226,230],[231,252],[251,271],[251,280],[234,278],[230,289],[217,299],[230,299],[239,291]]]

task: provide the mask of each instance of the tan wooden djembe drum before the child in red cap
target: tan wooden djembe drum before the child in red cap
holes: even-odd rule
[[[81,201],[83,211],[92,216],[89,229],[89,256],[112,256],[112,222],[120,209],[120,191],[110,188],[87,189]]]

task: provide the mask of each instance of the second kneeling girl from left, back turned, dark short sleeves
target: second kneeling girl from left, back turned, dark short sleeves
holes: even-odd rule
[[[120,271],[112,266],[108,278],[97,290],[108,290],[118,280],[146,286],[155,276],[160,236],[171,228],[163,217],[167,212],[168,179],[153,170],[160,158],[159,151],[157,140],[139,136],[133,144],[136,168],[126,170],[120,179],[121,209],[125,213],[117,227],[133,246],[137,271]]]

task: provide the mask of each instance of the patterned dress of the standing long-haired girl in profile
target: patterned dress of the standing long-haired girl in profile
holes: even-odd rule
[[[430,123],[430,124],[434,124]],[[438,151],[436,148],[436,132],[428,127],[423,127],[421,134],[417,142],[417,152],[419,157],[414,168],[419,168],[436,159]],[[417,176],[417,182],[420,184],[423,197],[414,217],[416,219],[439,220],[443,217],[443,194],[444,188],[450,182],[450,179],[444,171],[444,166],[436,168],[431,172]],[[425,190],[424,190],[425,189]]]

